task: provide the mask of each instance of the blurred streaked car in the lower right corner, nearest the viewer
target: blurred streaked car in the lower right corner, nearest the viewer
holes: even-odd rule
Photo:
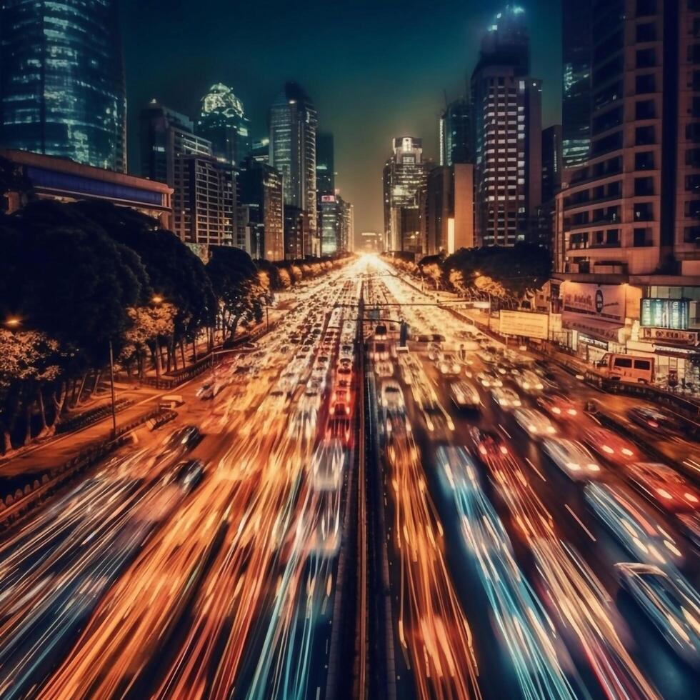
[[[700,668],[700,596],[681,574],[649,564],[615,564],[621,586],[666,643],[694,669]]]

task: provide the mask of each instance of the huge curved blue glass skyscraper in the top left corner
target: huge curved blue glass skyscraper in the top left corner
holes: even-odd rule
[[[0,39],[0,144],[124,172],[116,0],[5,0]]]

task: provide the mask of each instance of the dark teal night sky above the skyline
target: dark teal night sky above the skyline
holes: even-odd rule
[[[586,1],[586,0],[581,0]],[[479,37],[506,0],[123,0],[130,170],[138,117],[156,97],[196,116],[223,82],[244,102],[254,137],[285,80],[304,86],[333,131],[336,186],[355,231],[381,231],[381,169],[393,136],[421,136],[438,158],[438,119],[465,92]],[[521,3],[532,74],[543,79],[543,125],[561,119],[561,0]]]

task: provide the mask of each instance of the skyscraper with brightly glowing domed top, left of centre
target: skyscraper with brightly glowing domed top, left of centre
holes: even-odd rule
[[[250,119],[243,103],[222,83],[216,83],[201,99],[197,134],[211,141],[214,156],[231,165],[240,165],[251,153]]]

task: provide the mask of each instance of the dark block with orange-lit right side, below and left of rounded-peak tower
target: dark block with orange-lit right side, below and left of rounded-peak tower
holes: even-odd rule
[[[248,229],[253,258],[284,260],[282,176],[266,163],[249,157],[241,165],[239,207]]]

